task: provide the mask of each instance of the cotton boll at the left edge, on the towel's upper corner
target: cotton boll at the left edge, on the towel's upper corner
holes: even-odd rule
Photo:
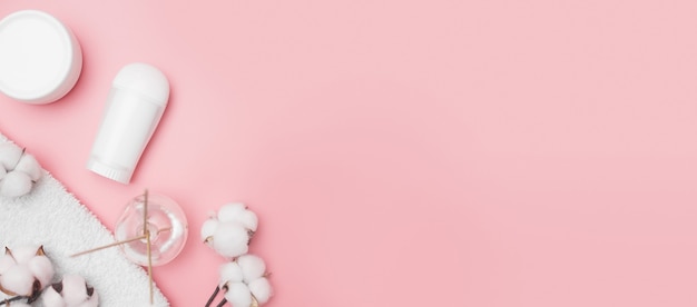
[[[41,175],[41,166],[31,155],[10,142],[0,145],[0,196],[28,194]]]

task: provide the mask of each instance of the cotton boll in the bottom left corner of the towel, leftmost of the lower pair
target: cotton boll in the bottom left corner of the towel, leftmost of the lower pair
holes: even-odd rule
[[[6,247],[0,257],[0,291],[7,295],[26,296],[31,303],[52,277],[53,266],[43,247]]]

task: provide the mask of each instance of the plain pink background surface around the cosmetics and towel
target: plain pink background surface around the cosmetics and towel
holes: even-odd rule
[[[72,28],[62,100],[0,131],[108,227],[144,188],[190,238],[155,277],[203,306],[208,212],[246,201],[268,306],[696,306],[697,4],[2,0]],[[170,106],[134,181],[85,169],[110,81]]]

